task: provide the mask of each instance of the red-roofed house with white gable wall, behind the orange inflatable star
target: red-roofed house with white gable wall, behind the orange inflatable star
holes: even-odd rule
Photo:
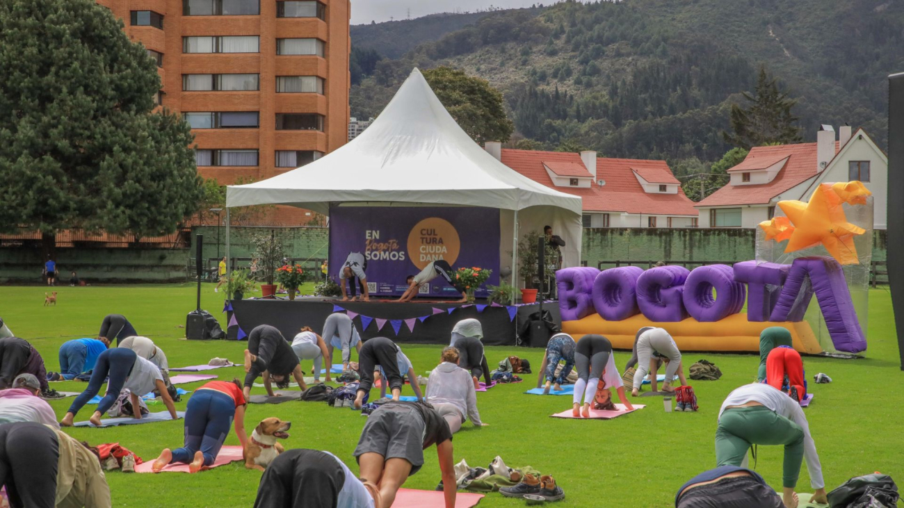
[[[730,181],[696,204],[702,228],[756,228],[784,200],[809,201],[820,183],[859,180],[873,195],[873,228],[886,228],[889,159],[871,137],[823,126],[815,143],[755,146]]]

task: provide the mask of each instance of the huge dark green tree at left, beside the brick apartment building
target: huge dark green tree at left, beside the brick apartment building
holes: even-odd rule
[[[191,131],[152,113],[154,61],[93,0],[0,3],[0,230],[176,229],[201,197]]]

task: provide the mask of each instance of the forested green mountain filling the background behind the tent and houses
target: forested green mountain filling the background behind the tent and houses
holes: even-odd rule
[[[886,78],[904,71],[904,2],[893,0],[567,1],[446,14],[441,26],[466,24],[445,32],[431,18],[353,28],[356,51],[378,53],[353,86],[353,116],[376,116],[413,67],[448,65],[503,91],[513,141],[535,142],[522,146],[665,158],[678,174],[730,149],[720,132],[760,65],[797,99],[805,140],[848,123],[880,146]],[[400,55],[409,37],[418,43]]]

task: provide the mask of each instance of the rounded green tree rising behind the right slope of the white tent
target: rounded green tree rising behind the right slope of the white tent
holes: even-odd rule
[[[424,78],[458,126],[478,144],[506,142],[512,136],[512,121],[505,116],[503,94],[479,78],[463,71],[438,67],[424,71]]]

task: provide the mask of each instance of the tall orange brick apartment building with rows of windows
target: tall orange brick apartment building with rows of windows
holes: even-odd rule
[[[202,176],[263,180],[348,137],[350,0],[98,0],[157,61]]]

